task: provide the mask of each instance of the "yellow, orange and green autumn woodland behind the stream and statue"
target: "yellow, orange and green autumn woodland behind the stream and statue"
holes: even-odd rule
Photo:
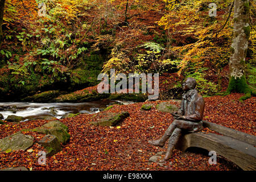
[[[110,68],[116,74],[160,73],[162,99],[178,98],[185,77],[195,77],[204,96],[228,87],[233,1],[214,1],[215,17],[209,16],[212,1],[205,0],[4,2],[1,100],[95,86],[97,75]],[[46,16],[38,15],[42,2]],[[255,2],[248,5],[244,64],[255,90]]]

